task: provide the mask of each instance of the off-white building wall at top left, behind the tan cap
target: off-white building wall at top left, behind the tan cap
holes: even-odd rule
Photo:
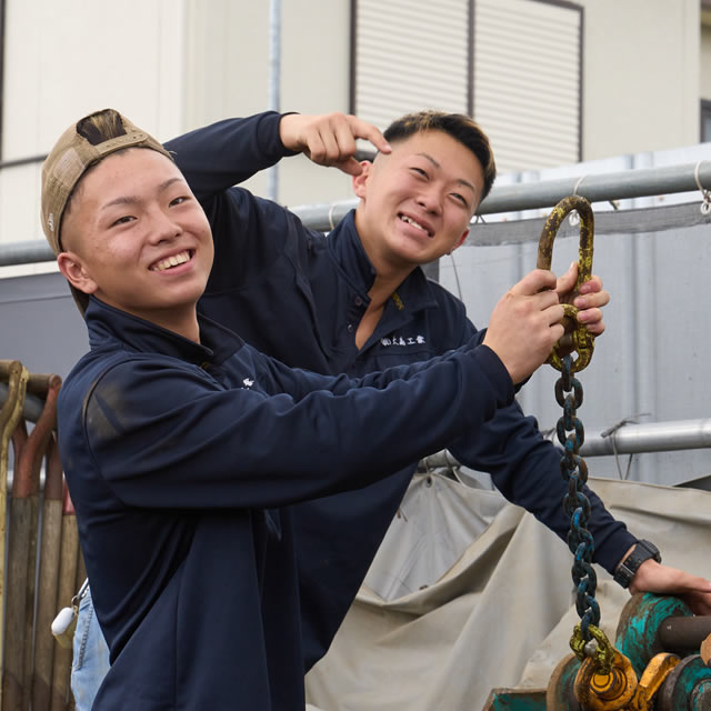
[[[114,107],[158,136],[182,121],[183,3],[6,0],[2,158],[47,153],[77,118]],[[0,243],[42,239],[39,163],[0,171]]]

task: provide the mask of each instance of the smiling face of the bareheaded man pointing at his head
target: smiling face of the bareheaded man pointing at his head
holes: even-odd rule
[[[481,200],[477,157],[439,130],[397,141],[353,180],[356,226],[377,271],[411,270],[461,244]]]

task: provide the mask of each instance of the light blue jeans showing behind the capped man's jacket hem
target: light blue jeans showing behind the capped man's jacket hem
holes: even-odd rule
[[[93,698],[109,671],[109,648],[93,612],[91,590],[79,602],[71,665],[71,692],[77,711],[91,711]]]

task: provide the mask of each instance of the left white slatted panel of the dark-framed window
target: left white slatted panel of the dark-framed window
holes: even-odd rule
[[[423,108],[465,113],[469,0],[359,0],[354,111],[384,128]]]

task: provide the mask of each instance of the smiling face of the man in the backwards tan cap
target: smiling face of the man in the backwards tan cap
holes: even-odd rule
[[[73,287],[172,330],[194,320],[212,236],[168,158],[143,148],[104,158],[82,178],[61,230],[58,262]]]

